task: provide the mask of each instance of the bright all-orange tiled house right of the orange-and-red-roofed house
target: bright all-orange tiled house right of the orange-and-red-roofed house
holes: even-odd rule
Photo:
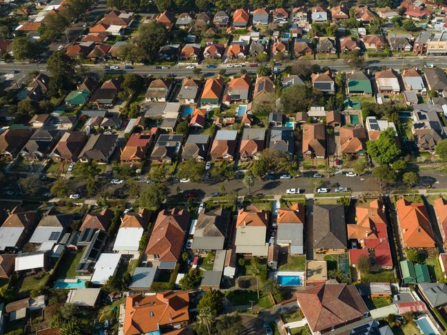
[[[405,248],[435,248],[433,229],[422,202],[396,202],[397,219]]]

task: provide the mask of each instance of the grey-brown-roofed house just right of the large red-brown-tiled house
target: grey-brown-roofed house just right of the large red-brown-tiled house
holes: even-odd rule
[[[231,228],[230,217],[231,213],[225,208],[199,213],[192,249],[224,250]]]

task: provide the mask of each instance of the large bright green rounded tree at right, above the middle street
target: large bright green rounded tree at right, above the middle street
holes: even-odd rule
[[[379,164],[390,164],[402,155],[402,151],[397,147],[393,128],[382,131],[377,140],[366,142],[366,150]]]

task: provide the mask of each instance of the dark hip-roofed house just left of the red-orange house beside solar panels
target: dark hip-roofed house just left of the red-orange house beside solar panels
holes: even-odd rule
[[[107,164],[112,153],[116,149],[118,143],[118,135],[99,133],[88,138],[84,149],[79,153],[81,162],[91,162],[92,160],[98,164]]]

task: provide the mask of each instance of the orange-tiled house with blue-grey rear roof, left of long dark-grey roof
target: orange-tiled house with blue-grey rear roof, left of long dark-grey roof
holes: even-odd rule
[[[280,208],[278,210],[276,243],[280,246],[287,246],[291,255],[304,253],[305,216],[304,205],[300,203],[293,204],[291,208]]]

